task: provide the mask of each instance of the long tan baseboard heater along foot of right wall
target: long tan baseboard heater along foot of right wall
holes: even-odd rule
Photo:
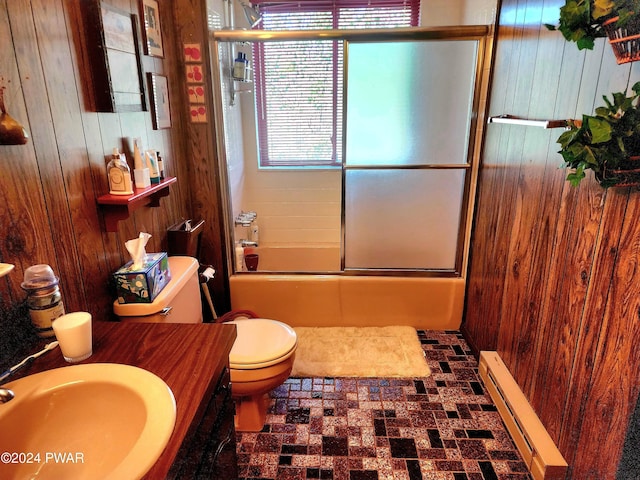
[[[561,480],[567,462],[497,352],[480,352],[480,378],[534,480]]]

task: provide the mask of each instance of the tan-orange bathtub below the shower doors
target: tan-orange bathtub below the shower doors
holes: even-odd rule
[[[231,306],[292,327],[403,325],[458,330],[462,278],[248,272],[229,278]]]

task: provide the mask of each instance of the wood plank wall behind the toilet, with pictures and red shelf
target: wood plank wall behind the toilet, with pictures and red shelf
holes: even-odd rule
[[[26,295],[20,288],[27,267],[53,267],[67,311],[109,318],[114,299],[109,279],[128,260],[124,242],[146,231],[153,235],[147,251],[166,251],[166,229],[194,214],[194,149],[185,133],[184,66],[176,48],[173,2],[159,2],[164,58],[142,57],[145,72],[169,79],[172,127],[154,130],[148,111],[92,110],[87,86],[93,59],[85,58],[79,13],[85,1],[0,0],[0,87],[5,88],[9,113],[30,133],[26,145],[0,146],[0,261],[16,265],[0,279],[0,364],[30,335],[25,330]],[[138,0],[108,3],[140,13]],[[96,205],[96,198],[108,191],[105,165],[115,146],[130,154],[136,137],[163,153],[167,174],[178,182],[160,208],[144,207],[120,222],[118,232],[107,233]],[[207,260],[220,269],[217,202],[212,203]]]

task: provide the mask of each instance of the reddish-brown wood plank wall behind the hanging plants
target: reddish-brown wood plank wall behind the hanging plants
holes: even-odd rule
[[[604,40],[579,52],[541,27],[563,4],[502,1],[490,115],[580,118],[640,81]],[[463,333],[500,353],[568,478],[615,478],[640,391],[640,191],[571,187],[561,133],[487,127]]]

